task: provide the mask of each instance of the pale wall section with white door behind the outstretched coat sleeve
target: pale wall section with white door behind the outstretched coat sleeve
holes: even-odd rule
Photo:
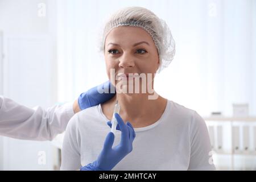
[[[46,5],[45,16],[40,5]],[[5,54],[1,94],[28,107],[55,104],[55,1],[1,0],[0,30]],[[46,152],[46,164],[38,163],[40,151]],[[53,169],[51,144],[1,137],[0,163],[5,170]]]

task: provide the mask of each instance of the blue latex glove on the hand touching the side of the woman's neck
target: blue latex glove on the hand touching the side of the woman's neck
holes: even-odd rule
[[[108,88],[109,92],[99,93],[97,90],[98,87],[102,89]],[[115,95],[115,93],[110,93],[111,87],[114,86],[110,83],[110,81],[107,81],[104,84],[89,89],[87,92],[81,93],[78,99],[80,109],[84,110],[88,107],[96,106],[110,100],[110,98],[114,97]]]

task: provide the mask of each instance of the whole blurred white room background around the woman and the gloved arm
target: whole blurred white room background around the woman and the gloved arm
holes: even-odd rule
[[[216,168],[256,170],[255,0],[0,0],[0,95],[47,108],[107,81],[98,38],[126,6],[170,27],[176,56],[155,90],[205,119]],[[62,138],[0,137],[0,170],[59,169]]]

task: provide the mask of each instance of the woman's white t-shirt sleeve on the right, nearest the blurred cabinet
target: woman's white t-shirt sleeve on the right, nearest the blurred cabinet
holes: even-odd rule
[[[190,128],[191,154],[188,170],[215,170],[207,125],[199,114],[193,114]]]

